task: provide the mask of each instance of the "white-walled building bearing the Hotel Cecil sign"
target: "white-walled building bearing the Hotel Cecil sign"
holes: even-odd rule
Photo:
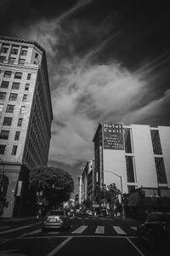
[[[94,186],[170,189],[170,127],[99,124],[94,135]],[[152,192],[150,192],[152,193]]]

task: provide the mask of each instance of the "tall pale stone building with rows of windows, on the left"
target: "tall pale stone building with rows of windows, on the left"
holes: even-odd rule
[[[0,37],[0,168],[4,217],[31,210],[28,174],[48,164],[53,119],[45,50]]]

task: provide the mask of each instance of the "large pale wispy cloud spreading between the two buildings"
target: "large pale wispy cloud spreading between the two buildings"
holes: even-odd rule
[[[82,7],[83,3],[76,6]],[[99,61],[94,57],[99,52],[105,55],[105,47],[121,30],[107,36],[103,24],[96,27],[75,20],[60,24],[76,6],[60,18],[42,19],[27,29],[20,27],[20,35],[33,40],[41,28],[38,42],[47,51],[54,112],[49,162],[71,167],[94,158],[93,137],[99,122],[151,125],[161,120],[163,113],[168,114],[165,109],[169,109],[166,107],[170,102],[166,88],[156,93],[156,79],[167,65],[161,72],[157,69],[165,65],[168,56],[155,61],[145,59],[133,72],[114,55],[108,56],[109,61]],[[82,34],[87,42],[92,39],[91,44],[85,45]]]

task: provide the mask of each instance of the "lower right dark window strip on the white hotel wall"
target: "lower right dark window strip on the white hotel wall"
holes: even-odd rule
[[[158,183],[167,183],[167,175],[165,171],[164,161],[162,157],[155,157],[156,174]]]

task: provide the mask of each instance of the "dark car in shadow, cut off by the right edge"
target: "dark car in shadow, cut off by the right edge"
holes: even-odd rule
[[[170,212],[150,212],[138,227],[139,239],[147,241],[152,249],[170,242]]]

